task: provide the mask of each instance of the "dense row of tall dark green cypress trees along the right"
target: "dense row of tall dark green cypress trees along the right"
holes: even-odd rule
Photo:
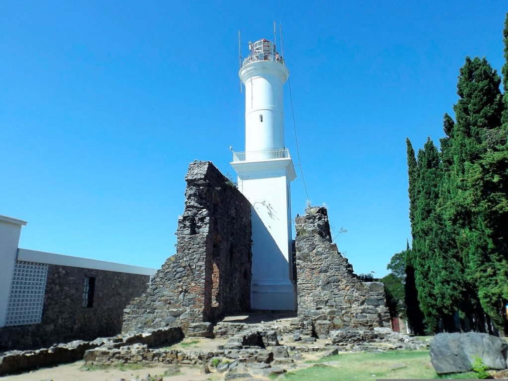
[[[412,281],[425,320],[451,321],[460,309],[474,327],[508,333],[508,13],[500,77],[485,58],[466,57],[457,84],[455,122],[444,115],[441,151],[430,140],[418,160],[407,140]],[[414,274],[414,277],[412,276]],[[408,303],[408,315],[410,305]],[[490,330],[490,328],[489,328]]]

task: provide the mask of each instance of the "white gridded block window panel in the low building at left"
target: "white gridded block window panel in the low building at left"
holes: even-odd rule
[[[41,323],[48,265],[16,261],[7,304],[6,326]]]

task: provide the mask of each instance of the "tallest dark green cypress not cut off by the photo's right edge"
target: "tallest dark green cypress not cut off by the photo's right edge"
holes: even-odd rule
[[[448,188],[446,195],[441,195],[445,199],[443,216],[454,233],[455,247],[464,266],[468,290],[480,300],[483,310],[488,307],[487,299],[490,298],[485,295],[491,294],[488,289],[492,287],[492,284],[484,284],[481,271],[482,266],[490,262],[487,253],[489,231],[486,215],[482,216],[479,210],[482,196],[478,193],[479,184],[475,180],[478,176],[474,173],[478,175],[481,172],[478,166],[488,146],[495,146],[499,140],[503,110],[499,85],[500,77],[485,58],[475,57],[471,60],[466,57],[457,85],[460,99],[454,106],[456,123],[453,137],[448,142],[451,143],[448,146],[449,157],[453,158],[447,178]],[[500,275],[499,272],[496,274]],[[495,319],[491,311],[486,312]],[[476,315],[481,318],[482,314],[479,309]],[[482,330],[481,326],[477,329]]]

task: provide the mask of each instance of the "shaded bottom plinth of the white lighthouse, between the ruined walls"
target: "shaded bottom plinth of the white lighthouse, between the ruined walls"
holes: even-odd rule
[[[253,281],[250,308],[261,310],[296,311],[296,286],[288,280]]]

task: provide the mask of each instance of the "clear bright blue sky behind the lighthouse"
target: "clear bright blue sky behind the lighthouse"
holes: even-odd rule
[[[405,138],[442,136],[466,55],[500,71],[508,4],[316,3],[0,2],[0,214],[28,221],[20,247],[160,267],[188,163],[234,174],[244,150],[238,30],[277,21],[310,200],[355,271],[385,275],[410,239]],[[292,189],[302,214],[300,173]]]

